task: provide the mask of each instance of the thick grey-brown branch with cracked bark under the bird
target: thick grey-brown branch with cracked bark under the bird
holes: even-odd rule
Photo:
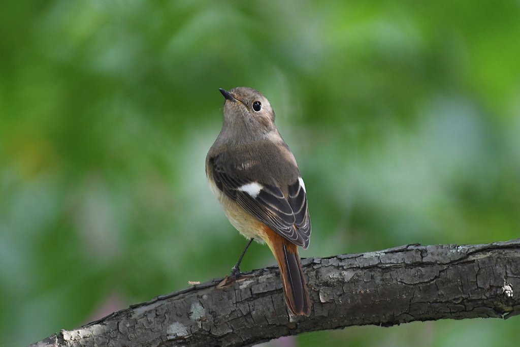
[[[244,346],[305,331],[520,313],[520,239],[407,245],[302,261],[313,308],[290,317],[277,267],[222,279],[62,330],[33,346]]]

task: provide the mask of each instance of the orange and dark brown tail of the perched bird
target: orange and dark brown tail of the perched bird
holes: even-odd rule
[[[292,314],[308,316],[310,314],[310,298],[302,272],[302,264],[298,255],[298,247],[291,241],[281,237],[270,228],[266,228],[267,245],[278,262],[282,278],[285,302]]]

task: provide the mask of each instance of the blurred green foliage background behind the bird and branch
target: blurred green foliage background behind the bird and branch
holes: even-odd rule
[[[304,257],[520,230],[520,3],[8,2],[0,11],[0,346],[229,273],[207,186],[219,87],[277,112],[309,197]],[[274,264],[254,245],[242,269]],[[519,320],[270,345],[507,345]]]

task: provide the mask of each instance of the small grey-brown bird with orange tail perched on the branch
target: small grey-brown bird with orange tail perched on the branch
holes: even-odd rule
[[[229,221],[249,238],[267,243],[278,262],[283,292],[294,315],[310,314],[298,246],[307,248],[310,218],[305,184],[294,155],[275,126],[275,112],[255,89],[237,87],[226,98],[224,123],[207,153],[206,175]]]

